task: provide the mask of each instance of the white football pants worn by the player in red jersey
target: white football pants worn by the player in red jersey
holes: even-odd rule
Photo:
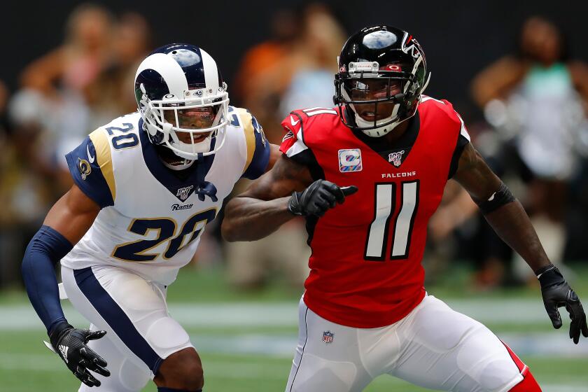
[[[433,295],[381,328],[325,320],[301,300],[286,392],[356,392],[381,374],[425,388],[506,392],[523,380],[503,342]]]

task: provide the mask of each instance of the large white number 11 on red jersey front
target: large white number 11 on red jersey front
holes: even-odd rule
[[[396,205],[396,183],[377,183],[374,190],[374,220],[365,240],[365,260],[384,261],[388,228]],[[390,260],[408,258],[410,235],[419,207],[419,180],[400,183],[400,211],[392,229]]]

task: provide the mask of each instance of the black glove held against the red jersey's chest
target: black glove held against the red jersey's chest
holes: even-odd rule
[[[336,184],[326,180],[316,180],[302,192],[295,192],[288,200],[288,211],[294,215],[323,216],[335,204],[345,201],[345,196],[357,192],[356,186],[339,188]]]

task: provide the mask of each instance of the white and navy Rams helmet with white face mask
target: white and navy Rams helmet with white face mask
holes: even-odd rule
[[[151,143],[186,160],[223,146],[227,85],[214,59],[201,48],[172,43],[151,52],[137,69],[135,98]]]

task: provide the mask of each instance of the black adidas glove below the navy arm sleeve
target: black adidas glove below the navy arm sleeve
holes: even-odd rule
[[[100,386],[88,370],[109,377],[106,360],[86,346],[87,342],[100,339],[106,331],[78,330],[68,323],[62,323],[51,333],[49,339],[55,352],[64,360],[69,370],[87,386]]]

